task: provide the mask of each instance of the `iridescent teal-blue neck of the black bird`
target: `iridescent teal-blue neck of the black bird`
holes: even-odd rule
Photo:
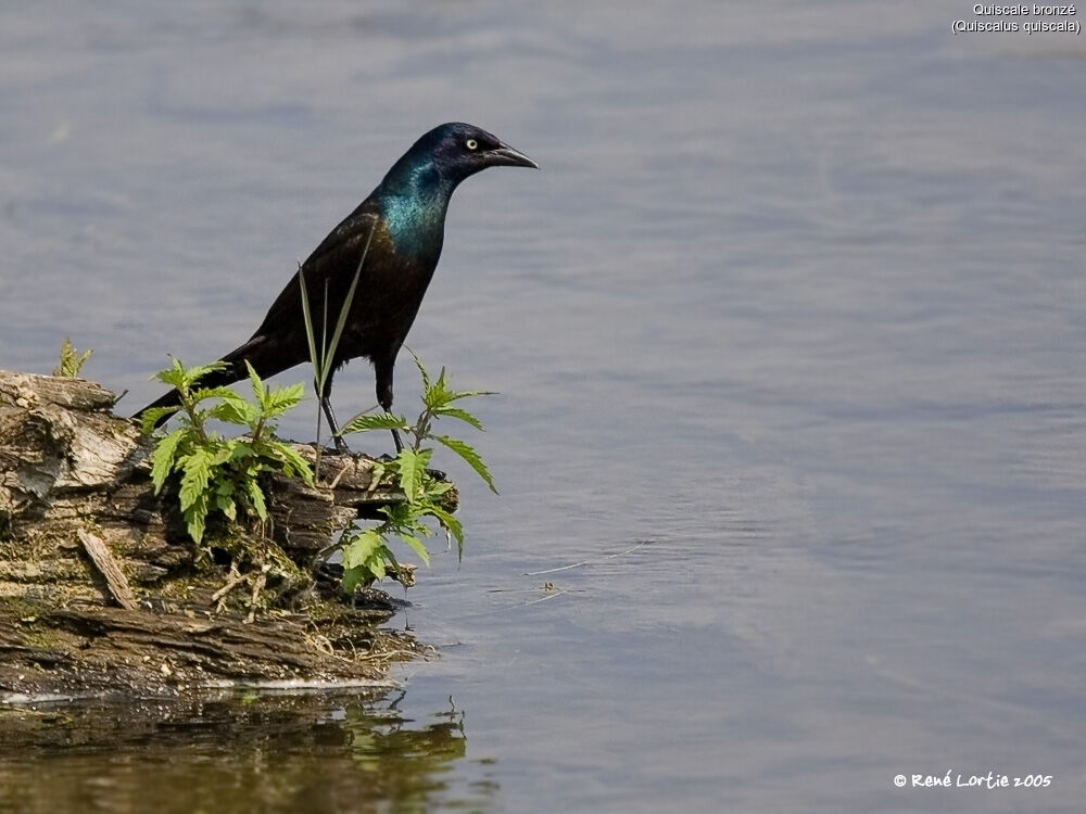
[[[429,156],[401,160],[389,170],[377,198],[397,253],[437,262],[454,189],[456,182],[442,177]]]

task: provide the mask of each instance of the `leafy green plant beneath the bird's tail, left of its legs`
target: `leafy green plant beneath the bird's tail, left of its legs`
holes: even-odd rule
[[[303,386],[272,390],[245,364],[255,403],[229,387],[199,386],[200,379],[224,367],[222,363],[186,368],[173,359],[171,367],[155,378],[177,389],[180,405],[143,414],[146,434],[163,416],[176,412],[180,418],[180,427],[162,436],[155,446],[151,481],[157,495],[172,473],[179,475],[181,514],[197,543],[203,539],[212,512],[220,512],[230,521],[243,516],[264,523],[268,514],[261,478],[267,473],[298,475],[313,485],[308,463],[273,435],[276,419],[302,400]],[[249,435],[223,437],[207,429],[212,419],[244,427]]]

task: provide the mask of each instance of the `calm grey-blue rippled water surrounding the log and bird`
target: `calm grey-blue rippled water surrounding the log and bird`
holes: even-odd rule
[[[282,737],[20,741],[0,805],[1079,810],[1086,40],[970,7],[0,9],[0,365],[71,335],[131,408],[425,129],[543,166],[457,192],[409,340],[503,394],[397,619],[442,658]],[[894,787],[948,771],[1053,779]]]

